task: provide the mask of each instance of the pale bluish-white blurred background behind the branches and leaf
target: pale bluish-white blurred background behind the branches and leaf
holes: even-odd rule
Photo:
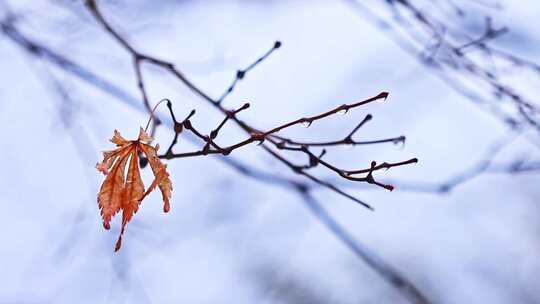
[[[0,9],[20,15],[16,24],[28,37],[138,98],[129,55],[81,3],[0,1]],[[500,8],[455,2],[470,9],[471,18],[490,14],[510,28],[493,43],[540,62],[538,2],[501,1]],[[343,167],[411,157],[419,163],[378,175],[396,181],[393,192],[338,181],[375,212],[325,190],[316,191],[316,198],[434,303],[540,303],[538,172],[481,174],[446,194],[407,187],[437,185],[474,165],[507,127],[348,3],[100,3],[134,46],[174,62],[212,97],[237,69],[280,40],[282,47],[225,101],[230,108],[249,101],[241,117],[261,129],[389,91],[385,103],[286,134],[340,138],[371,113],[360,139],[403,134],[406,145],[336,147],[327,160]],[[389,14],[384,1],[363,4]],[[171,212],[162,212],[161,195],[150,195],[128,225],[122,249],[113,252],[120,221],[110,231],[102,227],[96,194],[103,176],[94,165],[111,148],[114,129],[126,138],[137,135],[148,118],[142,102],[129,104],[88,85],[5,35],[0,67],[0,303],[407,303],[325,229],[295,192],[242,176],[213,156],[168,161]],[[152,102],[169,98],[179,117],[196,109],[193,123],[206,132],[222,119],[162,70],[146,65],[144,72]],[[538,95],[538,75],[509,77],[532,83],[527,93]],[[69,99],[54,89],[55,81]],[[167,113],[165,107],[158,112]],[[166,147],[172,136],[159,128],[155,138]],[[231,124],[220,140],[233,143],[243,136]],[[176,147],[196,148],[185,139]],[[505,151],[503,158],[538,156],[524,139]],[[303,180],[255,145],[232,156]]]

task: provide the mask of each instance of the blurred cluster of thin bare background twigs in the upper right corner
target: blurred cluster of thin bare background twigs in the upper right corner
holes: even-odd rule
[[[508,84],[499,71],[501,68],[498,68],[498,65],[506,63],[540,74],[540,65],[489,44],[507,33],[506,27],[495,28],[492,18],[487,17],[483,32],[474,37],[456,27],[455,22],[428,13],[428,8],[420,8],[417,0],[386,1],[394,14],[394,22],[374,13],[360,1],[346,2],[470,101],[485,107],[510,126],[529,125],[540,131],[540,109]],[[435,0],[429,8],[435,12],[444,11],[445,5],[448,5],[446,1]],[[458,8],[456,4],[452,7]],[[463,9],[456,10],[458,17],[463,17],[464,12]],[[512,104],[514,111],[505,110],[505,103]]]

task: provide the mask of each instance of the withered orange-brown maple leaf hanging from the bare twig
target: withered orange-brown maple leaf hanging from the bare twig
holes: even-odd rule
[[[168,212],[171,208],[169,200],[172,183],[167,166],[157,156],[159,144],[152,147],[150,145],[152,140],[143,128],[140,129],[137,140],[126,140],[120,132],[114,130],[110,141],[116,144],[117,148],[104,151],[103,161],[96,165],[96,169],[106,176],[97,196],[103,227],[110,229],[111,219],[122,210],[122,229],[116,241],[115,251],[122,246],[122,236],[127,223],[137,213],[142,200],[156,187],[159,188],[163,197],[163,211]],[[139,169],[139,154],[148,158],[154,174],[154,180],[146,191]],[[126,166],[128,167],[127,175]]]

